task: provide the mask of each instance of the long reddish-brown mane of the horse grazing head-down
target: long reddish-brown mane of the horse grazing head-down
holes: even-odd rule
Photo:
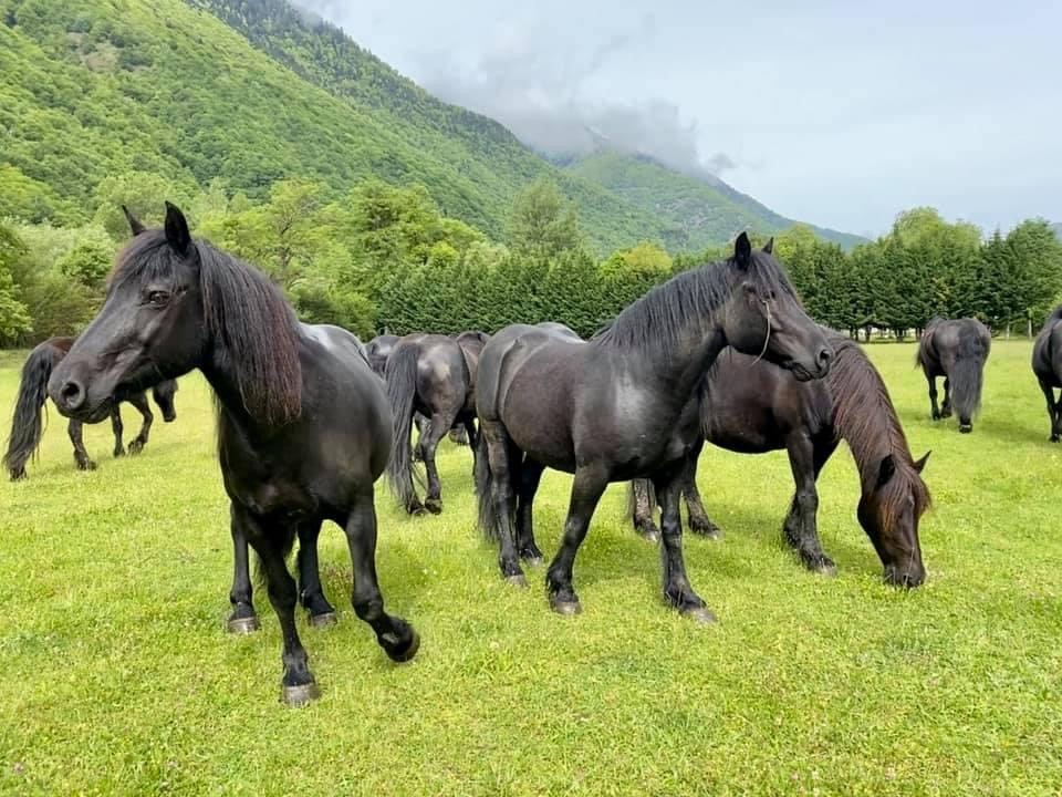
[[[882,505],[886,515],[899,510],[900,500],[909,491],[915,497],[916,517],[931,503],[929,489],[915,468],[904,427],[885,382],[858,343],[833,330],[829,331],[833,346],[833,365],[826,375],[833,401],[833,424],[843,437],[860,468],[863,484],[877,479],[882,451],[893,455],[895,474],[882,488]],[[886,517],[886,522],[892,521]]]

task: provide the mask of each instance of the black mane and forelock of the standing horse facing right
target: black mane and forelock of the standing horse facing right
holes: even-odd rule
[[[654,348],[668,356],[691,321],[707,331],[709,319],[731,294],[737,268],[730,258],[671,277],[621,311],[594,333],[591,342],[625,349]],[[746,275],[764,290],[796,294],[778,261],[766,252],[752,251]]]

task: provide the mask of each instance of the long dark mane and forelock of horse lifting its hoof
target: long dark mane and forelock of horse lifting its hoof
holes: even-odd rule
[[[302,369],[294,312],[261,271],[202,240],[192,241],[207,333],[231,372],[248,414],[281,425],[302,413]],[[163,230],[134,236],[112,283],[174,280],[178,255]]]

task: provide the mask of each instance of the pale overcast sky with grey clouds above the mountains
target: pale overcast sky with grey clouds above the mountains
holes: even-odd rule
[[[542,148],[590,127],[864,235],[1062,220],[1062,3],[299,2]]]

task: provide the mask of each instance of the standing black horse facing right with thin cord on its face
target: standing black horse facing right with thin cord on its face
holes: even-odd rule
[[[648,477],[663,505],[665,600],[712,620],[686,576],[678,476],[699,436],[697,385],[727,345],[766,356],[799,379],[830,370],[830,344],[771,255],[741,234],[731,258],[673,277],[590,341],[528,324],[494,334],[479,362],[477,491],[499,566],[527,583],[538,561],[531,514],[542,470],[574,474],[561,549],[546,573],[554,611],[581,611],[575,555],[611,482]],[[519,497],[518,497],[519,496]]]

